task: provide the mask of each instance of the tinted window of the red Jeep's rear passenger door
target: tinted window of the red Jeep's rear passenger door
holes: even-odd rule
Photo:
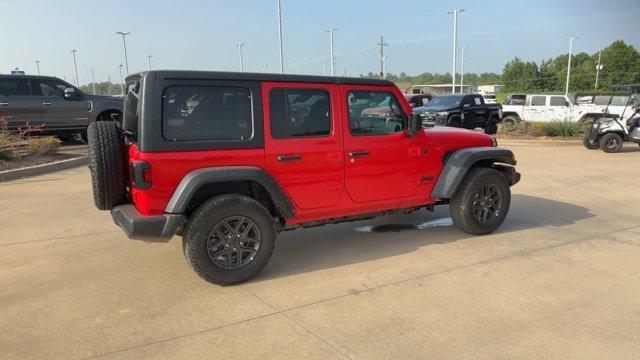
[[[271,136],[276,139],[331,134],[329,92],[273,89],[269,92]]]

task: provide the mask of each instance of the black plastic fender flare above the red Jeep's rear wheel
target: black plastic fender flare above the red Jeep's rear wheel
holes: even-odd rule
[[[182,214],[194,194],[205,184],[225,181],[255,181],[269,193],[278,211],[285,218],[295,216],[295,208],[278,183],[263,169],[255,166],[221,166],[193,170],[180,181],[165,213]]]

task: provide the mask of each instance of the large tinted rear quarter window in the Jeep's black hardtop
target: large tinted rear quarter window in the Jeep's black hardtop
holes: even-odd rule
[[[251,91],[227,86],[170,86],[162,96],[162,135],[169,141],[253,137]]]

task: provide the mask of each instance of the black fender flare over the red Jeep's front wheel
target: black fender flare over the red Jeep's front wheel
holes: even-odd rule
[[[436,199],[450,199],[458,190],[458,186],[462,183],[469,169],[478,161],[483,160],[512,166],[516,164],[513,152],[507,149],[474,147],[454,151],[446,158],[444,168],[431,191],[431,196]],[[513,184],[517,180],[514,179]]]

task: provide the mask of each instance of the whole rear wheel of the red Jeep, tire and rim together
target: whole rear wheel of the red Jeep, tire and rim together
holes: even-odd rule
[[[242,195],[222,195],[192,214],[182,245],[189,265],[201,278],[231,285],[262,270],[275,238],[273,220],[262,204]]]

